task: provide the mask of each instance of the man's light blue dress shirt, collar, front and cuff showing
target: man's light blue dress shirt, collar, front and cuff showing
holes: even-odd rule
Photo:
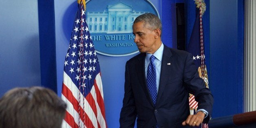
[[[146,58],[145,58],[145,75],[146,75],[146,77],[147,77],[148,65],[150,63],[150,56],[151,55],[152,54],[150,54],[150,53],[146,53]],[[154,60],[154,65],[156,67],[157,93],[158,93],[160,73],[161,73],[161,64],[162,64],[162,57],[163,57],[163,43],[161,44],[159,49],[157,49],[157,51],[153,55],[154,55],[154,57],[156,57],[156,59]],[[205,117],[208,116],[208,112],[206,110],[199,109],[196,112],[199,112],[199,111],[204,111],[206,113]]]

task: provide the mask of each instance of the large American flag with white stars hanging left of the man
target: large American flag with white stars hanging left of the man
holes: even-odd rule
[[[107,128],[99,60],[86,23],[85,0],[78,0],[64,62],[62,99],[67,103],[62,128]]]

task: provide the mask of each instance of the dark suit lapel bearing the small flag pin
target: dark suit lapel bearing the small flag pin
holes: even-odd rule
[[[162,57],[162,64],[161,64],[161,73],[160,73],[160,80],[159,80],[159,90],[157,94],[157,103],[160,102],[161,96],[163,94],[163,90],[166,87],[166,82],[168,80],[168,74],[170,73],[170,66],[172,66],[172,62],[170,62],[170,57],[172,57],[172,52],[170,49],[164,45],[163,48],[163,57]],[[168,64],[170,63],[170,65]]]

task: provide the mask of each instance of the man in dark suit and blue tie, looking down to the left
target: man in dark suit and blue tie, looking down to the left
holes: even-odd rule
[[[152,13],[137,17],[132,28],[140,54],[126,62],[120,127],[134,127],[136,118],[137,128],[189,128],[209,121],[213,97],[192,55],[161,42],[161,21]],[[199,102],[195,115],[189,93]]]

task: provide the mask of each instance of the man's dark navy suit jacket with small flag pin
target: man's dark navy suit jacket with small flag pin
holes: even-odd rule
[[[211,115],[212,94],[199,77],[190,53],[164,46],[155,107],[146,84],[145,57],[146,53],[140,53],[126,62],[121,128],[133,128],[136,117],[137,128],[154,128],[156,124],[159,128],[182,127],[190,114],[189,93],[199,102],[198,109]]]

